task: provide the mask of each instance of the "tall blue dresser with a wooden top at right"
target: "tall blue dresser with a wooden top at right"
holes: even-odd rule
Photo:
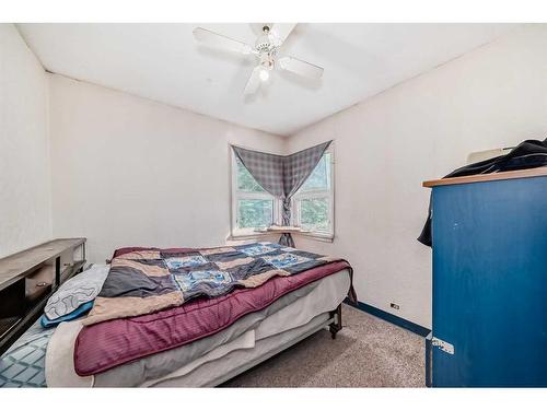
[[[433,190],[427,384],[547,386],[547,168],[423,185]]]

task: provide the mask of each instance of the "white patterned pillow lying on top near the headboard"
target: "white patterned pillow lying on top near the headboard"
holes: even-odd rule
[[[93,301],[106,280],[109,265],[93,265],[90,269],[69,279],[47,301],[44,314],[55,320],[74,312],[82,304]]]

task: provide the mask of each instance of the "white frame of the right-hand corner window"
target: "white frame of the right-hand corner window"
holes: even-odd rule
[[[302,235],[331,242],[335,237],[335,153],[334,142],[325,151],[325,154],[330,154],[330,189],[314,189],[309,191],[296,191],[291,199],[291,223],[295,226],[301,226],[301,203],[306,199],[327,199],[328,203],[328,231],[309,231],[303,232]]]

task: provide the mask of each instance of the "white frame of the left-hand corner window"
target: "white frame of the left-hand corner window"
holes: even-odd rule
[[[237,189],[237,157],[233,150],[231,151],[231,237],[255,237],[266,235],[266,232],[260,232],[257,227],[238,227],[237,219],[240,213],[240,200],[245,199],[261,199],[272,201],[272,223],[279,224],[281,220],[281,201],[276,199],[271,194],[264,192],[253,192],[253,191],[240,191]]]

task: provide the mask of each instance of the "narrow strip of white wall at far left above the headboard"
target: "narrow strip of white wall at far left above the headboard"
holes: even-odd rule
[[[0,24],[0,257],[50,239],[46,73]]]

